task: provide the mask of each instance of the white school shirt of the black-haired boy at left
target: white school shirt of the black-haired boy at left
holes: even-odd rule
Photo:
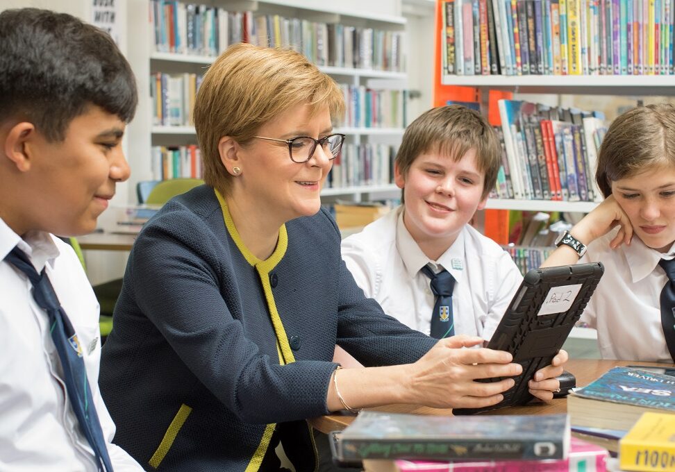
[[[110,444],[115,425],[99,393],[99,304],[70,246],[44,232],[22,239],[0,219],[0,471],[97,471],[63,382],[47,313],[33,300],[30,280],[4,260],[15,246],[38,272],[44,267],[83,346],[83,359],[115,472],[142,471]]]

